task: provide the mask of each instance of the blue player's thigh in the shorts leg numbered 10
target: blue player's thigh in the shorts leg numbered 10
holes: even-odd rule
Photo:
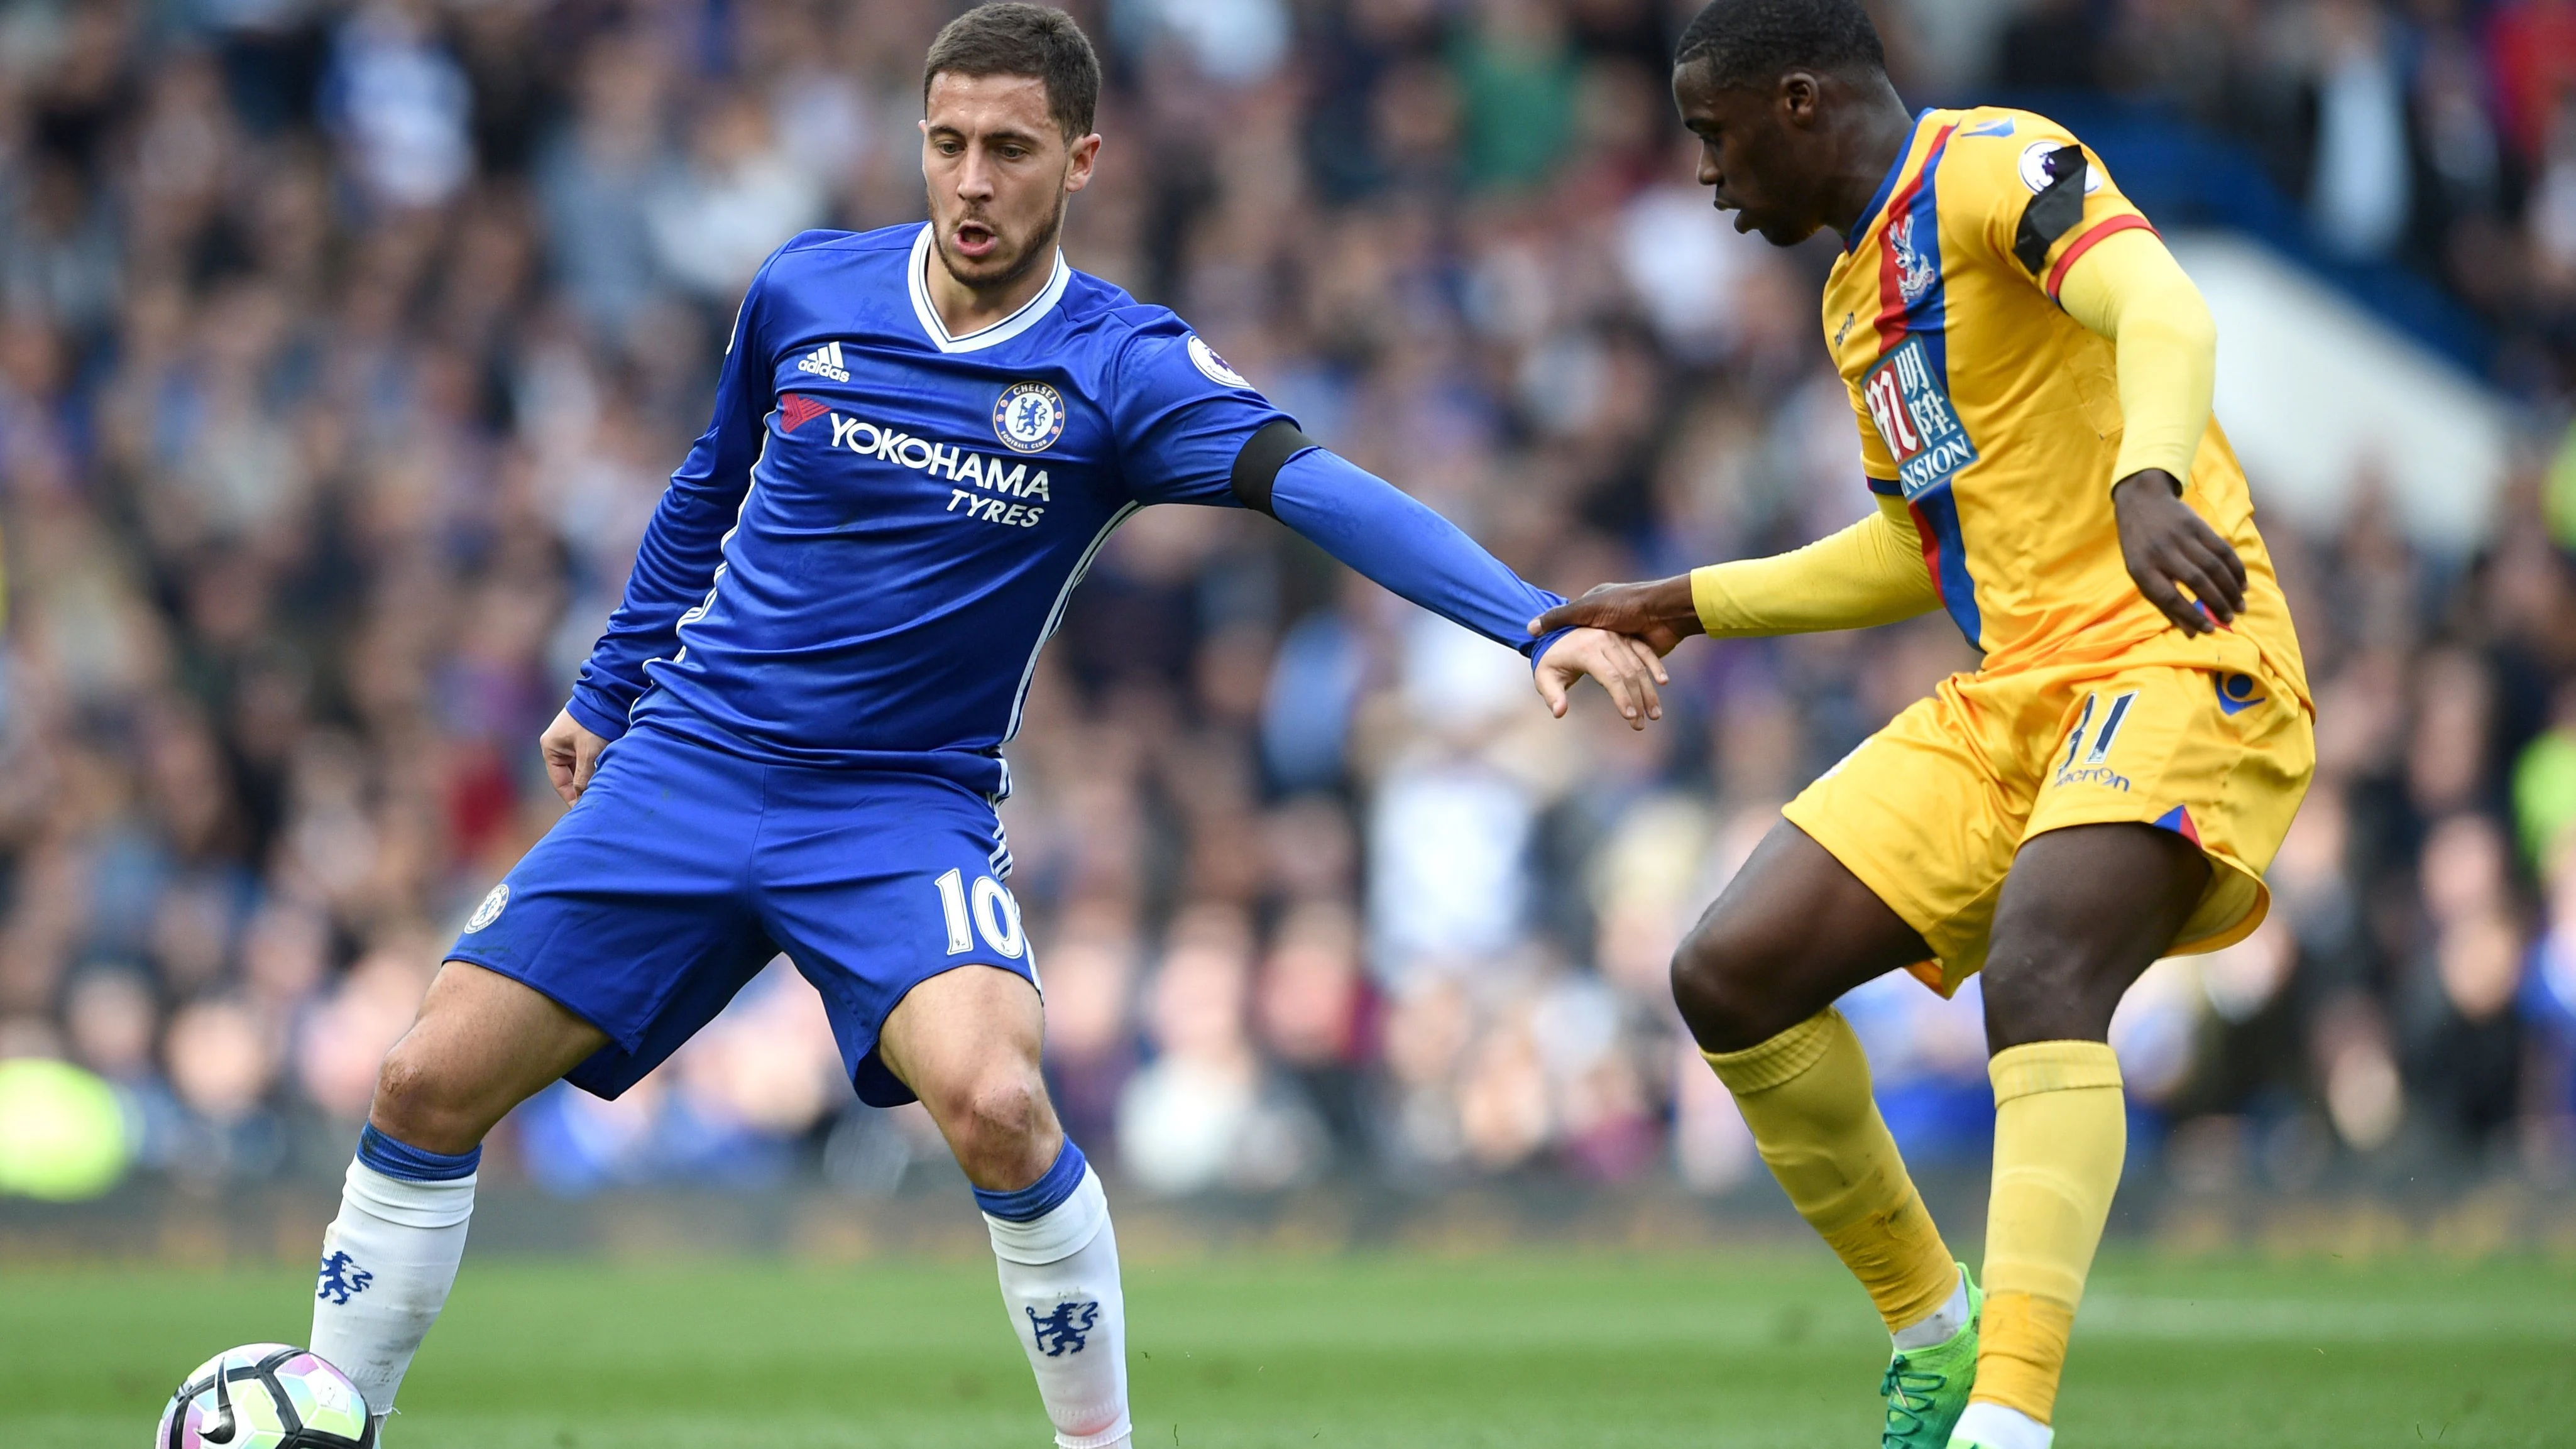
[[[809,775],[778,793],[796,808],[762,836],[757,909],[822,993],[860,1099],[940,1112],[976,1071],[1033,1078],[1036,952],[992,803],[933,777]]]

